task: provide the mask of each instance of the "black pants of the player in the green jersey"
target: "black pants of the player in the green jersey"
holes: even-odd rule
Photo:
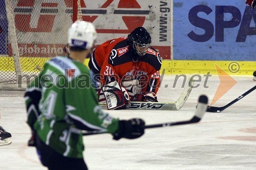
[[[41,163],[49,170],[88,170],[83,158],[68,158],[48,147],[36,135],[36,150]]]

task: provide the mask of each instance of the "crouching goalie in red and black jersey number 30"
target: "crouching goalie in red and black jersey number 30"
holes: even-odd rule
[[[89,67],[100,81],[99,102],[108,109],[124,109],[128,101],[157,102],[161,57],[151,46],[151,36],[143,27],[128,37],[111,39],[92,53]]]

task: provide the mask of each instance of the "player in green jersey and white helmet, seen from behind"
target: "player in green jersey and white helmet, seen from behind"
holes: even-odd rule
[[[40,161],[49,169],[87,169],[81,130],[105,130],[116,140],[144,134],[142,119],[119,120],[98,105],[92,74],[83,65],[95,39],[92,23],[74,22],[68,57],[49,60],[26,90],[27,122]]]

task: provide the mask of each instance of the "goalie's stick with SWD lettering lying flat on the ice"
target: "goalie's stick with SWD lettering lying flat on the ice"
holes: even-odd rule
[[[190,78],[176,102],[129,102],[129,104],[126,105],[126,109],[179,110],[186,102],[193,85],[194,79]],[[100,104],[100,106],[106,106],[106,104]]]

